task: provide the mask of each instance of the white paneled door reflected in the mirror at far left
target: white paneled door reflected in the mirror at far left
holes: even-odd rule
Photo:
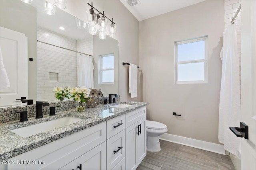
[[[16,99],[28,98],[27,37],[23,33],[0,27],[0,47],[10,81],[10,87],[0,90],[0,107],[24,105]]]

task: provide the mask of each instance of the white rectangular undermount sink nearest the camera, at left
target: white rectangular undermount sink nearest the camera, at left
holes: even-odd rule
[[[78,121],[82,121],[83,119],[77,117],[63,117],[60,119],[46,121],[43,123],[38,123],[35,125],[30,125],[26,127],[21,127],[18,129],[11,130],[12,132],[16,133],[17,135],[25,138],[30,137],[32,135],[36,135],[38,133],[46,132],[58,127],[62,127],[65,125],[70,125],[72,123],[76,123]]]

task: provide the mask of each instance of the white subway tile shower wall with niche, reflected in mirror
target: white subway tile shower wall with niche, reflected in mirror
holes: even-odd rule
[[[93,36],[76,40],[50,30],[38,27],[38,40],[92,55]],[[37,100],[56,102],[55,86],[76,87],[79,57],[86,57],[52,45],[37,43]]]

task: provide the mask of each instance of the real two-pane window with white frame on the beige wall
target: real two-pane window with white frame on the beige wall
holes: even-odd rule
[[[175,42],[175,82],[208,83],[207,36]]]

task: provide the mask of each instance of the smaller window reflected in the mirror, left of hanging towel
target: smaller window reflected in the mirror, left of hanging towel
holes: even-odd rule
[[[99,84],[114,84],[114,53],[100,55]]]

